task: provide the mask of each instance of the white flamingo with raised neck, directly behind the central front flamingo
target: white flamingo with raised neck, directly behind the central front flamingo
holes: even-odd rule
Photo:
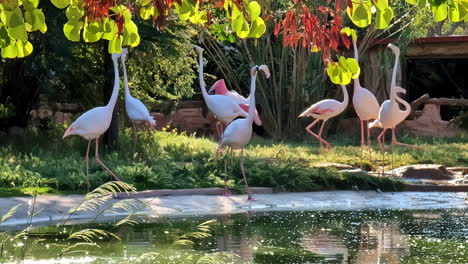
[[[199,57],[199,79],[200,79],[200,87],[203,95],[203,99],[205,100],[208,109],[216,116],[216,118],[228,124],[235,118],[241,116],[246,118],[247,112],[242,109],[239,104],[229,96],[224,95],[209,95],[206,91],[205,81],[203,80],[203,49],[199,46],[195,46],[195,50],[198,53]],[[255,109],[255,108],[254,108]],[[218,135],[221,138],[222,133],[222,124],[220,122],[216,123],[216,130],[218,131]]]

